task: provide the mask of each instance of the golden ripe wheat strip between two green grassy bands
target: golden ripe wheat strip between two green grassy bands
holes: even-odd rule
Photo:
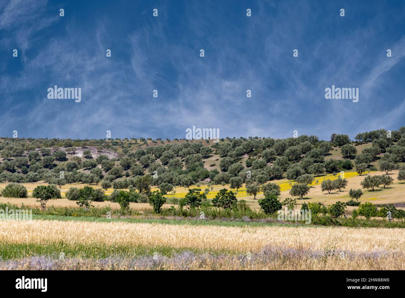
[[[8,244],[143,245],[211,251],[259,252],[265,246],[300,250],[405,253],[403,229],[347,227],[221,227],[160,223],[0,221]]]

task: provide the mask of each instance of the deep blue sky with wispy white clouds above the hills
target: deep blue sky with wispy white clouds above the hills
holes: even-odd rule
[[[0,1],[0,136],[395,130],[405,125],[404,19],[393,0]],[[54,85],[81,88],[81,102],[48,99]],[[359,101],[325,99],[332,85],[359,88]]]

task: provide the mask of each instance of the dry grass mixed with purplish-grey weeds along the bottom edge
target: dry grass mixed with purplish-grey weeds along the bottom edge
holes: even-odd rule
[[[134,259],[52,259],[26,257],[0,262],[0,270],[404,270],[403,254],[317,253],[298,250],[266,250],[247,256],[194,254]]]

